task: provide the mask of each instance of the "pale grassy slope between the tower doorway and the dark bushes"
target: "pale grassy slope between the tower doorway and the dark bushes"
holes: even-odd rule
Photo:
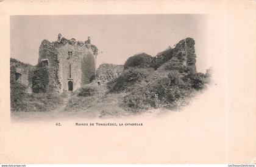
[[[97,112],[99,117],[127,115],[121,108],[126,93],[109,93],[107,85],[84,85],[69,96],[65,111],[68,112]]]

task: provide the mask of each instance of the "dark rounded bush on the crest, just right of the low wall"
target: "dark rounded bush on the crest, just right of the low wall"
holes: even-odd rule
[[[126,63],[124,63],[124,69],[127,69],[129,67],[152,68],[153,57],[146,53],[133,55],[126,60]]]

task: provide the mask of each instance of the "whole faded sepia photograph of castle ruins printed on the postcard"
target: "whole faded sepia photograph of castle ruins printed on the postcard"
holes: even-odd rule
[[[10,16],[12,116],[182,111],[210,86],[207,23],[199,14]]]

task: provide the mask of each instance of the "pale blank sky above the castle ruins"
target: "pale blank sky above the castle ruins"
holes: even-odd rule
[[[59,33],[80,41],[90,36],[99,49],[97,66],[124,64],[141,52],[155,56],[191,37],[196,41],[197,71],[210,67],[206,15],[10,16],[10,57],[36,65],[41,41],[56,41]]]

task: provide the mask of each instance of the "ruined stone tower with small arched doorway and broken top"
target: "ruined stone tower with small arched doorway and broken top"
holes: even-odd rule
[[[91,44],[58,35],[52,43],[43,40],[39,48],[38,63],[48,67],[49,90],[73,91],[94,79],[98,49]]]

